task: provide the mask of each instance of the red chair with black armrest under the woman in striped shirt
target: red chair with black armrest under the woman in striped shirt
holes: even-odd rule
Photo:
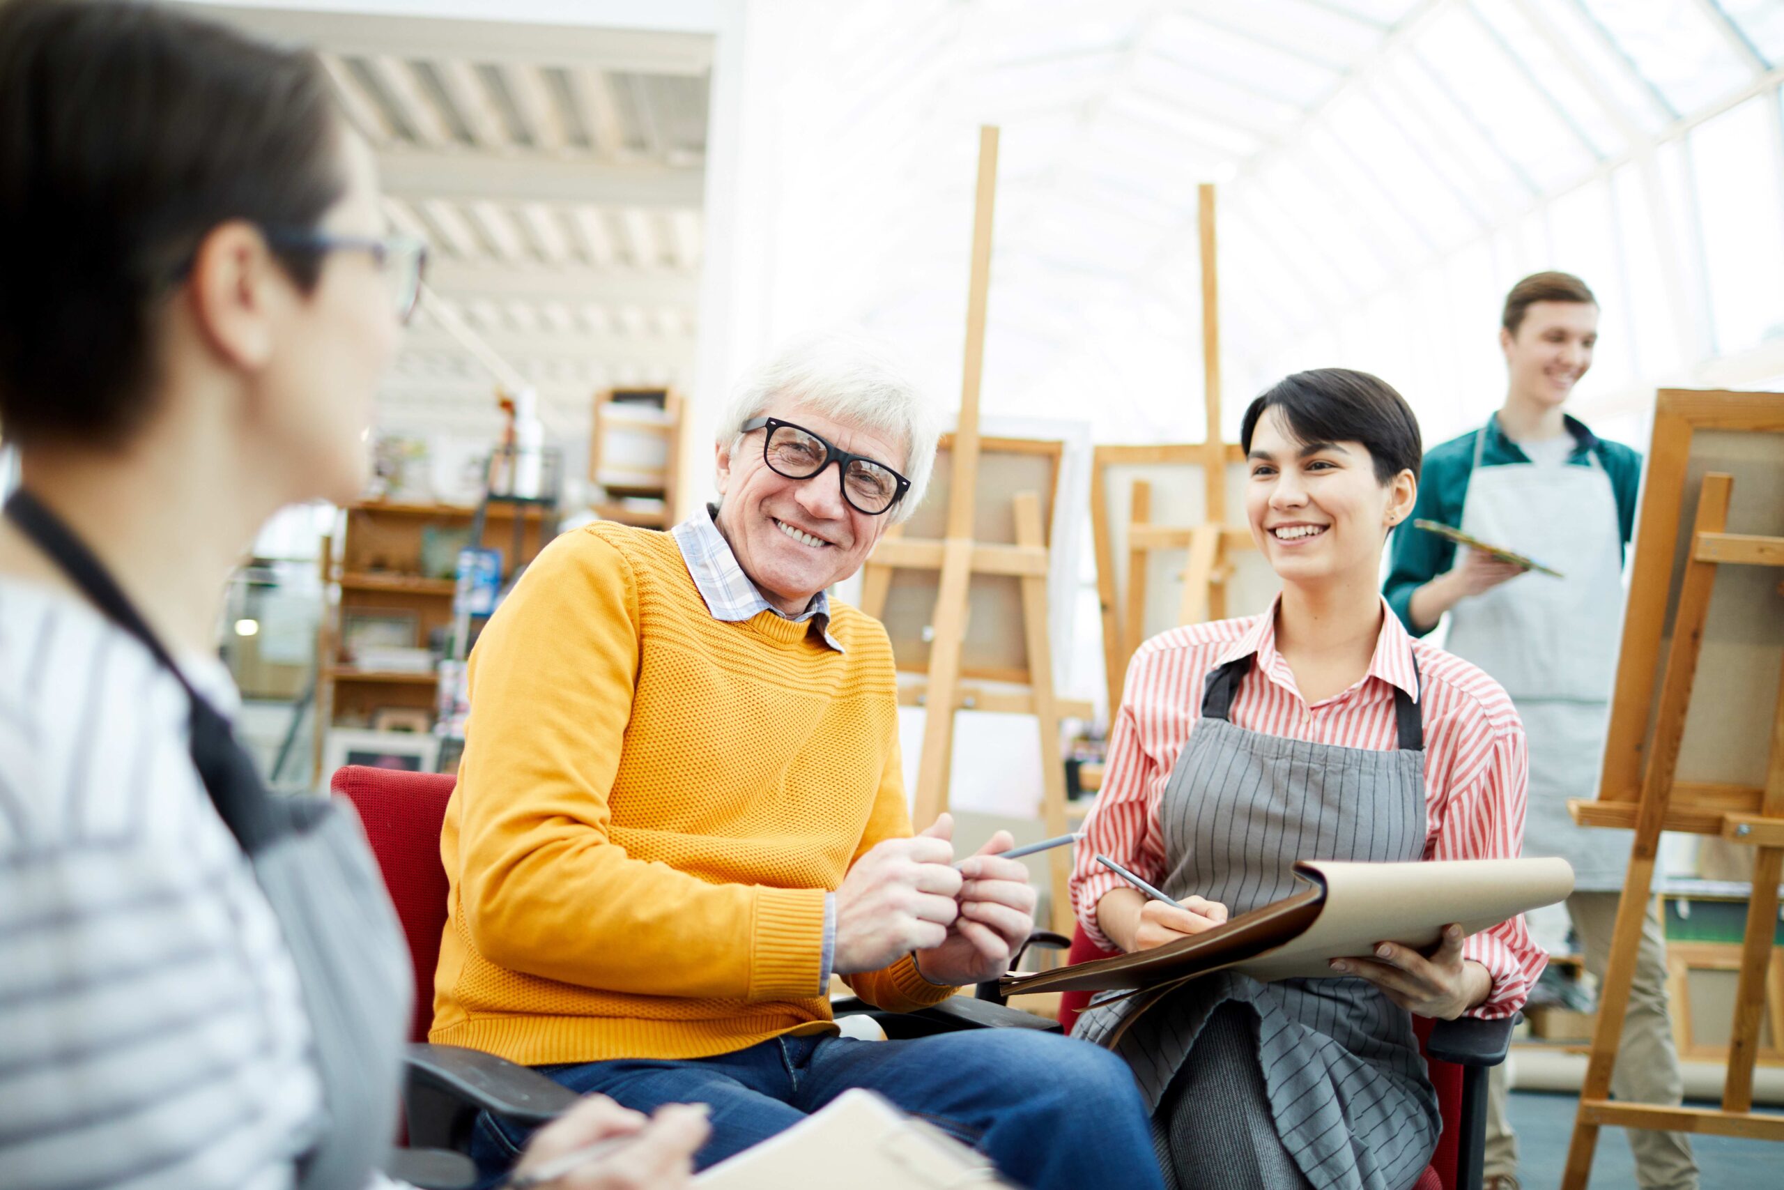
[[[1072,933],[1067,963],[1108,958],[1085,928]],[[1090,1003],[1090,992],[1060,996],[1060,1026],[1067,1033]],[[1486,1069],[1506,1060],[1511,1021],[1429,1021],[1413,1017],[1418,1045],[1425,1054],[1431,1085],[1438,1092],[1443,1133],[1415,1190],[1481,1190],[1481,1158],[1486,1140]]]

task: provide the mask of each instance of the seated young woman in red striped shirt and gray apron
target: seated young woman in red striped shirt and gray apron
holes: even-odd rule
[[[1375,376],[1304,371],[1245,410],[1252,539],[1283,580],[1261,616],[1174,628],[1127,671],[1072,899],[1103,946],[1140,951],[1293,890],[1302,858],[1518,853],[1524,731],[1474,665],[1415,640],[1377,591],[1418,494],[1418,421]],[[1185,908],[1101,869],[1108,855]],[[1329,979],[1220,972],[1117,1042],[1188,1186],[1400,1190],[1438,1138],[1411,1013],[1506,1017],[1543,954],[1513,919],[1429,958],[1400,946]],[[1110,1038],[1135,1001],[1076,1035]]]

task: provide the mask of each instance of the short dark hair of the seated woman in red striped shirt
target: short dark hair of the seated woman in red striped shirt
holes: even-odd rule
[[[1251,453],[1251,435],[1270,407],[1302,442],[1361,442],[1375,462],[1375,480],[1388,483],[1400,471],[1418,478],[1424,439],[1406,398],[1386,380],[1349,368],[1315,368],[1277,380],[1251,403],[1240,423],[1238,444]]]

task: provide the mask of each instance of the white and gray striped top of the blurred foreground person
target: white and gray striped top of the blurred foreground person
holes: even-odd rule
[[[186,671],[235,710],[221,664]],[[0,1185],[294,1185],[323,1128],[300,996],[186,690],[86,603],[0,578]]]

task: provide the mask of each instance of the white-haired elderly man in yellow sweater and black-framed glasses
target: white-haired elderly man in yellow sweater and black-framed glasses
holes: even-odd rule
[[[915,510],[937,434],[872,344],[808,339],[721,421],[717,508],[528,567],[471,655],[432,1040],[640,1111],[706,1103],[701,1167],[865,1087],[1022,1185],[1160,1185],[1108,1051],[830,1017],[831,974],[922,1008],[1033,928],[1008,835],[958,871],[947,815],[912,835],[892,648],[826,594]],[[523,1140],[482,1117],[473,1156],[492,1174]]]

